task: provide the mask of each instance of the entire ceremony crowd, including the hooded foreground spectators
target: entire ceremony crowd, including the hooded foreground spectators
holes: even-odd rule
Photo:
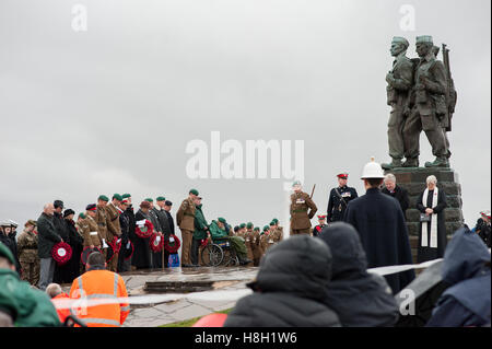
[[[0,283],[16,283],[19,292],[0,294],[0,322],[23,302],[32,304],[34,315],[44,307],[47,312],[47,305],[43,305],[46,298],[32,293],[34,290],[46,290],[55,304],[63,298],[80,298],[81,293],[126,296],[119,272],[168,268],[179,247],[180,267],[198,268],[207,264],[201,256],[204,247],[226,240],[239,265],[260,268],[249,284],[255,293],[237,303],[225,326],[393,326],[399,317],[394,296],[412,282],[414,271],[383,278],[368,274],[367,268],[413,264],[405,219],[405,210],[410,207],[408,194],[394,175],[384,175],[374,159],[364,166],[361,177],[365,195],[359,197],[347,186],[348,174],[338,178],[327,214],[318,216],[319,224],[314,228],[311,219],[317,207],[302,191],[301,183],[294,182],[292,237],[286,241],[278,219],[262,230],[251,222],[233,228],[222,217],[209,222],[197,189],[189,190],[175,216],[183,242],[175,235],[173,203],[163,196],[155,199],[155,206],[152,198],[144,199],[136,212],[131,195],[114,194],[112,200],[101,195],[77,221],[72,209],[55,200],[44,206],[36,221],[26,221],[17,239],[17,224],[1,221]],[[421,212],[418,261],[444,257],[443,280],[449,290],[437,302],[430,324],[446,324],[446,314],[458,314],[462,318],[462,323],[454,323],[458,326],[490,324],[490,296],[472,296],[483,289],[484,280],[490,287],[490,211],[481,212],[472,231],[465,226],[455,234],[454,240],[462,241],[459,247],[455,242],[446,248],[445,207],[445,194],[431,175],[415,206]],[[471,259],[464,257],[471,254],[478,258],[472,266]],[[14,281],[19,276],[31,283],[33,291],[28,291],[27,282]],[[464,289],[461,282],[470,287]],[[60,283],[72,284],[69,294],[61,292]],[[481,313],[487,304],[489,317]],[[96,306],[82,318],[91,326],[120,326],[128,312],[128,304],[108,305],[104,311]],[[56,317],[46,315],[40,323],[49,326],[54,318],[59,322],[67,316],[59,311]],[[32,317],[16,324],[31,322]]]

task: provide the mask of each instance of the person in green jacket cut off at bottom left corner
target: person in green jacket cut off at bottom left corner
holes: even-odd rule
[[[15,259],[0,243],[0,327],[59,326],[57,311],[45,292],[19,279]]]

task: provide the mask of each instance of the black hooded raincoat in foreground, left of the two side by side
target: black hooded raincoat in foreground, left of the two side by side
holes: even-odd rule
[[[324,304],[331,253],[318,239],[292,236],[261,258],[255,291],[241,299],[224,327],[332,327],[337,314]]]

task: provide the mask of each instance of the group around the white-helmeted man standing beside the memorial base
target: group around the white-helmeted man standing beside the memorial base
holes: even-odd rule
[[[302,191],[301,183],[294,182],[290,208],[291,234],[311,233],[317,236],[327,221],[328,224],[344,221],[359,232],[370,268],[413,264],[405,219],[405,211],[409,208],[408,194],[396,184],[396,177],[391,174],[385,176],[382,166],[372,159],[361,176],[366,190],[364,196],[359,197],[354,188],[347,186],[348,174],[339,174],[338,178],[339,187],[330,191],[327,216],[318,216],[319,224],[313,230],[311,219],[317,207],[311,196]],[[430,176],[417,202],[417,208],[422,212],[419,263],[443,257],[446,247],[446,196],[436,183],[435,176]],[[382,190],[383,184],[385,188]],[[406,271],[387,276],[386,280],[397,293],[413,278],[413,271]]]

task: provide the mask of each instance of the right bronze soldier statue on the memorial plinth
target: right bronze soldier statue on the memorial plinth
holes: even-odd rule
[[[419,140],[423,130],[435,156],[434,162],[425,163],[425,167],[448,167],[446,138],[442,126],[448,113],[446,70],[443,62],[434,56],[432,36],[418,36],[415,46],[420,61],[415,68],[414,85],[409,98],[410,112],[403,127],[407,158],[403,166],[419,166]]]

